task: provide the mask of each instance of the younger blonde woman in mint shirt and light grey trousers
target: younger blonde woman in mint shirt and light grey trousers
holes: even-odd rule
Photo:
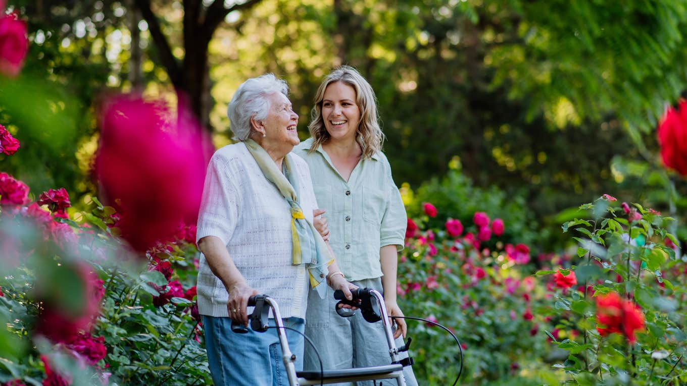
[[[309,129],[311,138],[294,152],[310,167],[317,203],[328,218],[328,229],[325,223],[320,230],[331,240],[341,274],[357,286],[383,293],[389,315],[403,316],[396,303],[396,267],[407,218],[389,162],[381,152],[384,135],[367,80],[348,66],[330,73],[315,95]],[[324,367],[388,364],[383,328],[375,325],[381,321],[368,323],[359,314],[339,317],[333,302],[329,295],[326,299],[311,295],[308,300],[306,336],[315,341]],[[394,322],[396,344],[403,344],[405,321]],[[306,369],[318,366],[317,356],[306,350]],[[417,385],[410,367],[403,374],[407,385]]]

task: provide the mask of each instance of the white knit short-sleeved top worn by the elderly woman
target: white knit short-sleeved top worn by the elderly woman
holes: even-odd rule
[[[317,201],[310,172],[302,158],[292,156],[302,186],[298,200],[312,221]],[[289,203],[264,177],[243,143],[217,150],[207,167],[196,237],[205,236],[225,243],[247,284],[275,299],[282,317],[305,317],[311,290],[305,265],[293,265]],[[201,315],[229,316],[227,290],[202,254],[197,290]]]

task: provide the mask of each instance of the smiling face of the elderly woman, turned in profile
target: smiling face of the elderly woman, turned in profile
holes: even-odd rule
[[[267,117],[260,122],[252,121],[258,132],[255,139],[273,157],[284,157],[293,146],[300,144],[296,130],[298,114],[293,111],[289,98],[282,93],[268,95],[267,100]]]

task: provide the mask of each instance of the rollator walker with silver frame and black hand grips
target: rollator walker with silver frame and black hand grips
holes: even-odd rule
[[[403,367],[414,363],[411,357],[401,359],[399,352],[407,351],[410,346],[411,339],[401,348],[396,348],[394,342],[394,334],[392,333],[389,315],[387,315],[384,298],[378,291],[371,288],[357,288],[351,291],[353,299],[348,301],[344,297],[341,290],[334,293],[335,299],[339,300],[339,304],[348,304],[355,306],[361,310],[363,318],[374,323],[381,320],[384,326],[384,331],[389,345],[389,356],[391,364],[371,367],[354,367],[343,370],[324,370],[324,371],[302,371],[295,370],[294,362],[296,360],[295,354],[289,348],[289,342],[286,341],[286,329],[282,322],[282,315],[279,312],[279,306],[274,299],[267,295],[251,296],[248,300],[248,306],[255,306],[253,313],[249,316],[251,328],[256,332],[265,332],[269,327],[269,311],[272,310],[272,315],[275,320],[275,327],[279,337],[279,343],[282,347],[282,360],[286,366],[286,373],[289,376],[290,386],[304,386],[304,385],[321,385],[339,382],[354,382],[354,381],[372,381],[376,379],[396,379],[398,386],[406,386],[403,378]],[[345,311],[339,311],[339,304],[336,305],[337,313],[341,316],[345,315]],[[238,324],[232,325],[232,330],[241,332],[245,326]]]

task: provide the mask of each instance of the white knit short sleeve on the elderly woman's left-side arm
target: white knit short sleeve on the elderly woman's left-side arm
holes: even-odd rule
[[[216,236],[227,245],[236,228],[239,203],[229,163],[222,157],[213,156],[205,175],[196,242],[206,236]]]

